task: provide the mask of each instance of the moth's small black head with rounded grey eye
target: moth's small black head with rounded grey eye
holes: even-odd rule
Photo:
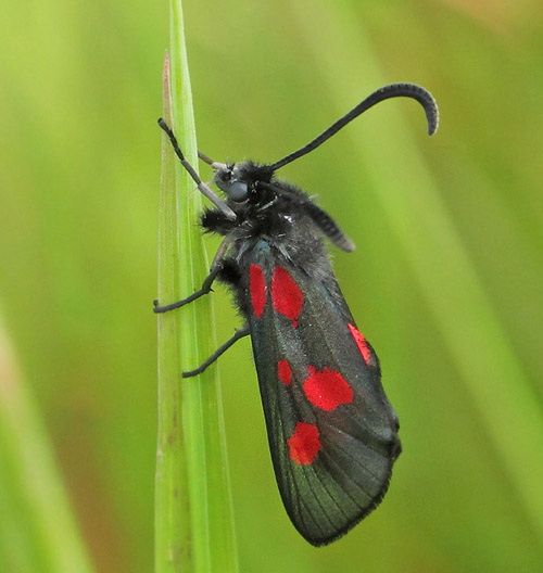
[[[243,203],[256,192],[260,181],[269,183],[274,170],[253,162],[231,163],[215,171],[213,182],[236,203]]]

